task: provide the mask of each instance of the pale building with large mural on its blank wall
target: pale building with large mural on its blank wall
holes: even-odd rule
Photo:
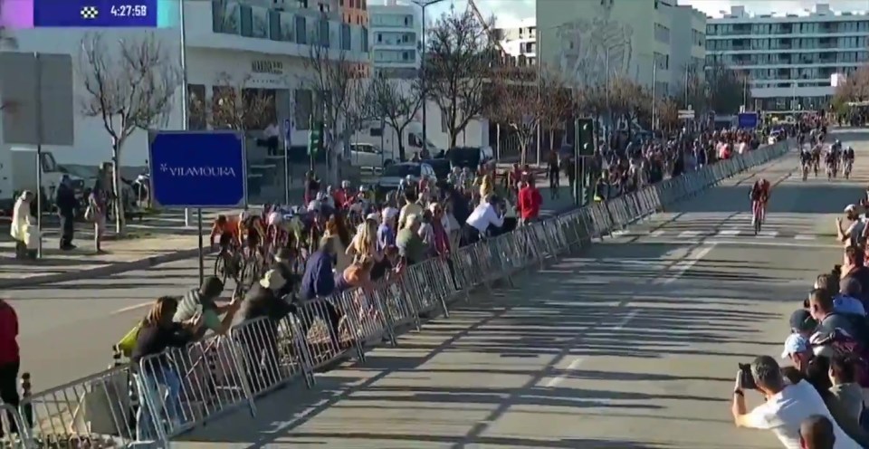
[[[675,94],[683,66],[704,55],[696,45],[704,39],[700,15],[675,3],[537,0],[536,54],[580,83],[624,76],[657,95]]]

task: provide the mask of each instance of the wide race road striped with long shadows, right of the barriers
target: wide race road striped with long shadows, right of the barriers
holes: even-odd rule
[[[841,259],[828,234],[869,181],[869,133],[839,137],[853,181],[803,182],[780,158],[175,446],[778,448],[733,427],[732,382],[780,355],[784,316]],[[777,186],[755,237],[759,176]]]

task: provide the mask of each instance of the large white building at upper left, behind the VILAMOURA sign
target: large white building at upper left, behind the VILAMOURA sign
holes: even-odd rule
[[[289,119],[291,143],[304,145],[314,106],[308,62],[310,43],[315,36],[328,36],[322,39],[328,39],[329,57],[333,59],[343,54],[341,57],[348,62],[369,61],[368,29],[343,23],[339,1],[186,1],[186,72],[191,96],[201,97],[207,103],[224,80],[233,81],[232,87],[244,87],[245,91],[268,96],[273,100],[272,108],[265,112],[266,121],[277,124],[282,134],[286,134],[283,123]],[[175,12],[175,15],[180,14]],[[154,33],[168,57],[180,61],[179,28],[42,28],[16,30],[11,34],[18,43],[17,51],[69,53],[74,70],[80,72],[87,70],[80,65],[79,52],[81,41],[88,33],[103,33],[107,43]],[[78,73],[74,76],[78,78]],[[81,80],[73,80],[73,86],[76,100],[85,99]],[[173,111],[164,128],[182,129],[180,89],[173,101]],[[52,151],[62,164],[97,165],[110,160],[110,139],[101,119],[84,117],[77,105],[74,109],[75,145],[44,149]],[[191,119],[191,128],[201,125]],[[251,131],[255,136],[262,130]],[[124,145],[121,165],[144,166],[147,158],[147,133],[136,131]]]

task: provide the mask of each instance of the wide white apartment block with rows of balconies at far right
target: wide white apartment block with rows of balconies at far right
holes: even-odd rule
[[[817,110],[833,95],[832,79],[869,61],[869,15],[812,10],[750,14],[733,6],[706,26],[706,60],[749,76],[761,110]]]

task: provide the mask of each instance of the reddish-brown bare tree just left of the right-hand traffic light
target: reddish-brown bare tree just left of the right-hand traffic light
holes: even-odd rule
[[[528,147],[544,120],[560,117],[567,107],[563,84],[556,76],[545,73],[536,83],[496,80],[492,115],[513,129],[519,142],[521,163],[528,159]],[[564,101],[564,102],[562,102]],[[559,104],[560,103],[560,104]]]

